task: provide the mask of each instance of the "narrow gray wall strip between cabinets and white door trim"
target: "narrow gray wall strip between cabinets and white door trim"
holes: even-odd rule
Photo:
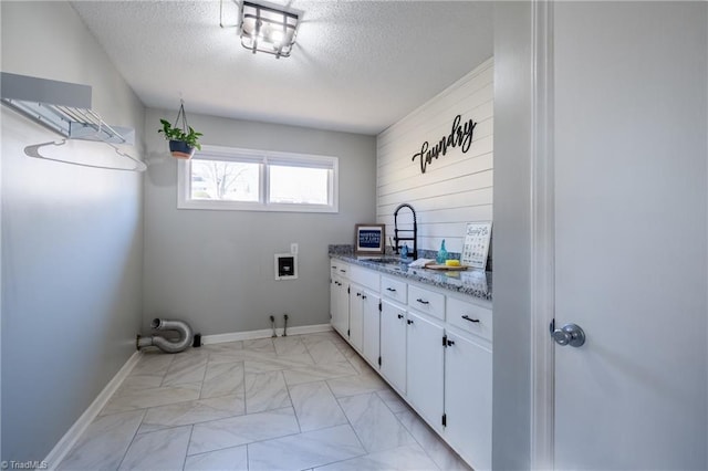
[[[531,460],[531,2],[494,4],[492,464]],[[513,338],[513,342],[509,342]]]

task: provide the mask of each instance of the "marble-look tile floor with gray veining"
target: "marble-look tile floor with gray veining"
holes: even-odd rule
[[[334,332],[146,350],[60,470],[470,470]]]

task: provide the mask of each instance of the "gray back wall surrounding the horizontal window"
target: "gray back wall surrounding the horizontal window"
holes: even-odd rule
[[[375,137],[189,114],[202,144],[339,157],[340,211],[178,210],[177,160],[157,134],[159,118],[175,116],[146,114],[144,329],[155,316],[202,335],[269,328],[270,314],[279,326],[283,313],[292,326],[329,323],[327,244],[352,243],[354,224],[375,221]],[[274,281],[273,254],[291,242],[300,244],[299,279]]]

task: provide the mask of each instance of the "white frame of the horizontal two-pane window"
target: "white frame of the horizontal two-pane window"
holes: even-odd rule
[[[200,158],[207,160],[259,163],[259,201],[250,202],[191,199],[191,160]],[[177,163],[177,208],[227,211],[339,212],[339,161],[340,159],[337,157],[330,156],[202,145],[201,150],[197,150],[191,159],[179,160]],[[269,202],[270,165],[292,165],[330,169],[327,182],[327,200],[330,203],[311,205]]]

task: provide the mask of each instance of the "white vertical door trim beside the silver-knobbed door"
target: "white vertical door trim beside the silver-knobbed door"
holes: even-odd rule
[[[553,2],[532,9],[531,469],[554,468],[555,205],[553,159]]]

